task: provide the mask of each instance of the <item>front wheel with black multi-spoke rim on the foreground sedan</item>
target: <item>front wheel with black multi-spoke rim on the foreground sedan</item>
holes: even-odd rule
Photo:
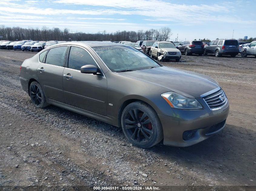
[[[152,147],[164,137],[162,125],[155,110],[140,101],[125,107],[121,116],[121,125],[125,137],[137,147]]]

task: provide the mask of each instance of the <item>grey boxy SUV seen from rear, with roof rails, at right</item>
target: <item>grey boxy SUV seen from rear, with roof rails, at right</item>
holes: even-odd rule
[[[235,39],[213,40],[208,46],[204,46],[204,55],[215,54],[216,57],[220,57],[221,55],[235,57],[238,53],[239,43]]]

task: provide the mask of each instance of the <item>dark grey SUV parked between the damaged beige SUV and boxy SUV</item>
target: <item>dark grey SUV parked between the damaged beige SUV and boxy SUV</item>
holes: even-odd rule
[[[202,56],[204,53],[204,44],[201,40],[187,40],[178,46],[181,53],[185,53],[186,56],[192,54],[198,54]]]

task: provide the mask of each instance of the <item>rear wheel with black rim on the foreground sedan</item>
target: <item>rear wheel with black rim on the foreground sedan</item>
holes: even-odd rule
[[[38,82],[32,81],[29,86],[29,95],[35,107],[44,108],[49,105],[46,102],[44,91]]]

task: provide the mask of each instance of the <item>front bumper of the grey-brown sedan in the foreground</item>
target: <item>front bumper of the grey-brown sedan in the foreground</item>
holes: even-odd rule
[[[229,104],[221,110],[212,111],[206,103],[201,101],[200,103],[204,107],[201,110],[174,109],[176,117],[158,114],[164,132],[164,145],[176,147],[191,146],[211,137],[224,128],[224,121],[228,117]],[[210,128],[219,123],[221,126],[218,126],[216,131],[214,130],[209,134]],[[194,134],[190,139],[186,140],[184,139],[186,132],[193,132]]]

